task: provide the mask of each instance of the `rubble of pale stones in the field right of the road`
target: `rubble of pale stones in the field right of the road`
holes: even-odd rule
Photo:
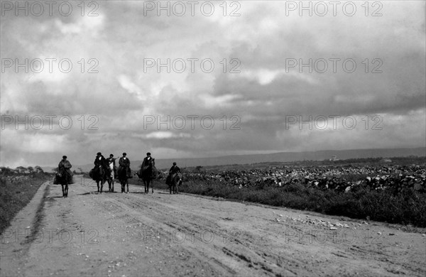
[[[240,188],[256,186],[285,187],[302,184],[320,190],[391,190],[398,193],[413,188],[426,192],[426,168],[420,165],[322,165],[251,170],[224,170],[222,172],[192,172],[187,178],[219,180]]]

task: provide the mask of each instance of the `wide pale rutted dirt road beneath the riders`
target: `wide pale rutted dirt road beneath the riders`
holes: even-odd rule
[[[160,190],[146,195],[135,185],[129,194],[98,194],[92,180],[84,184],[70,185],[65,199],[60,185],[48,185],[35,236],[18,214],[1,237],[1,276],[426,274],[426,237],[381,223]],[[349,228],[331,230],[320,220]]]

